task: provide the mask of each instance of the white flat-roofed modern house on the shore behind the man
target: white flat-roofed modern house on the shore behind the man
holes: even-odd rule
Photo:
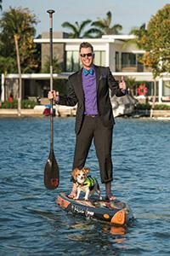
[[[102,38],[65,38],[65,33],[54,32],[54,57],[59,60],[62,72],[54,73],[54,79],[67,79],[68,76],[81,67],[79,61],[79,45],[83,41],[88,41],[94,46],[94,63],[110,67],[114,77],[119,80],[122,76],[125,79],[133,78],[136,82],[141,82],[147,87],[147,96],[153,96],[153,77],[150,70],[139,63],[139,56],[144,54],[144,50],[139,50],[135,44],[125,44],[128,39],[134,38],[133,35],[108,35]],[[42,33],[42,38],[34,39],[36,44],[42,44],[42,66],[49,55],[48,32]],[[8,74],[8,87],[17,88],[17,74]],[[34,73],[22,74],[23,88],[22,96],[47,96],[49,90],[49,74]],[[46,81],[46,83],[44,83]],[[139,86],[138,83],[137,86]],[[164,73],[161,78],[156,79],[157,102],[170,103],[170,74]],[[15,90],[17,91],[17,90]],[[138,96],[136,94],[136,96]],[[4,75],[2,75],[2,101],[5,99]]]

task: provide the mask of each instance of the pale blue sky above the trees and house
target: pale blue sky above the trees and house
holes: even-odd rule
[[[105,18],[111,11],[112,24],[121,24],[122,34],[128,34],[133,27],[148,23],[150,17],[155,15],[170,0],[3,0],[3,11],[9,7],[22,7],[31,10],[37,15],[39,23],[36,26],[37,35],[49,30],[48,9],[54,9],[53,30],[69,32],[61,24],[69,21],[97,20]],[[1,18],[2,12],[0,12]]]

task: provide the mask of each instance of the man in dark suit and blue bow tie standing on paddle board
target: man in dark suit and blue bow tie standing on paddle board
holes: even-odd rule
[[[82,69],[69,77],[67,96],[56,96],[55,91],[49,91],[48,98],[54,98],[60,105],[75,106],[77,104],[73,169],[82,169],[85,165],[89,148],[94,139],[101,182],[105,183],[106,197],[111,201],[115,199],[111,193],[111,181],[113,180],[111,145],[115,121],[109,89],[113,95],[124,96],[126,84],[124,80],[118,84],[109,67],[94,65],[94,48],[88,42],[80,44],[79,54]],[[69,197],[74,198],[76,195],[77,185],[73,183]]]

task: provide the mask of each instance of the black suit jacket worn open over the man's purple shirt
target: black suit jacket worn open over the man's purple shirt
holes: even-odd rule
[[[113,111],[111,106],[111,100],[109,95],[109,88],[112,91],[112,95],[124,96],[122,90],[119,88],[119,84],[116,82],[111,74],[109,67],[95,66],[96,74],[96,87],[97,87],[97,102],[99,116],[106,127],[113,127],[115,120],[113,117]],[[69,89],[66,97],[59,96],[59,105],[75,106],[77,104],[77,118],[75,131],[81,130],[82,120],[84,117],[84,93],[82,89],[82,69],[77,73],[73,73],[69,77]]]

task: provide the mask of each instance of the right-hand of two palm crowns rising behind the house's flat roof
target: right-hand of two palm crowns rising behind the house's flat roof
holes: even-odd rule
[[[92,23],[92,26],[98,29],[96,37],[101,37],[102,35],[117,35],[122,30],[122,25],[115,24],[111,25],[112,15],[111,11],[107,12],[105,19],[98,19]]]

